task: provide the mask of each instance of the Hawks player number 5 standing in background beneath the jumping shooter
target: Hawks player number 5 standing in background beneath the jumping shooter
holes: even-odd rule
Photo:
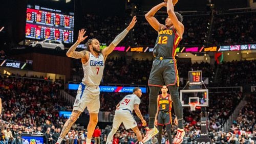
[[[162,130],[165,125],[169,143],[172,143],[172,98],[170,98],[170,94],[167,93],[168,88],[164,85],[161,88],[162,94],[159,94],[157,97],[157,114],[155,117],[155,125],[158,126],[158,143],[161,143],[162,140]],[[177,125],[177,117],[174,119],[174,124]]]

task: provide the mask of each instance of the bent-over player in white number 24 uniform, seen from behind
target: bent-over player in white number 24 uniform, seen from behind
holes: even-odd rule
[[[116,106],[113,128],[106,139],[106,144],[110,144],[121,123],[123,123],[126,130],[132,129],[136,133],[139,144],[142,144],[142,135],[133,117],[134,110],[137,116],[140,118],[142,126],[146,126],[146,121],[139,109],[141,95],[141,89],[136,87],[133,89],[133,94],[126,95]]]

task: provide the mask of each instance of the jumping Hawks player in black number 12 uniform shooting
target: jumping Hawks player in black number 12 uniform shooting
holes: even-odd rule
[[[165,20],[165,25],[159,23],[154,17],[156,12],[162,7],[167,7],[168,17]],[[158,133],[154,127],[155,115],[157,112],[157,96],[163,84],[170,91],[170,95],[174,102],[175,114],[178,118],[178,132],[174,138],[174,143],[181,143],[185,135],[183,129],[183,109],[179,99],[178,86],[179,77],[176,65],[176,47],[178,46],[184,33],[182,15],[174,12],[172,0],[167,3],[161,3],[153,7],[145,14],[146,20],[158,32],[157,41],[154,47],[153,54],[156,57],[153,61],[148,86],[150,87],[150,104],[148,106],[149,122],[148,130],[143,139],[143,142],[150,140],[152,136]]]

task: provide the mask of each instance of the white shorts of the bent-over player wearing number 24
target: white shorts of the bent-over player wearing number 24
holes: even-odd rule
[[[113,128],[118,129],[121,123],[123,123],[126,130],[133,129],[137,126],[133,113],[130,110],[119,108],[115,112]]]

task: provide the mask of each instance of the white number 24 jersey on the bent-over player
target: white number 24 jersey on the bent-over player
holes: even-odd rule
[[[122,99],[119,108],[125,108],[133,111],[135,104],[140,104],[140,98],[135,94],[129,94]]]

